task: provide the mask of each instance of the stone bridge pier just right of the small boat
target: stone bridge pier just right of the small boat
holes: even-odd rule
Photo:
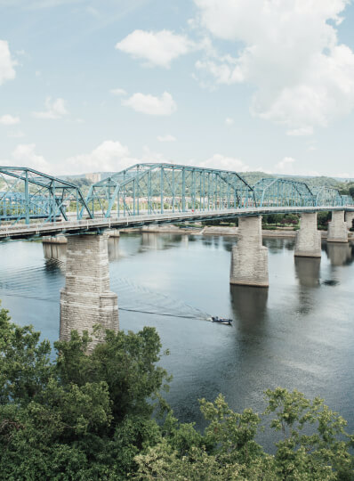
[[[261,216],[239,217],[232,248],[230,284],[268,287],[268,249],[261,245]]]

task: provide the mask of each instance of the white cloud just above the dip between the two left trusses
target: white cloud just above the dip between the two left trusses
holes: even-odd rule
[[[129,149],[120,142],[104,141],[88,154],[81,154],[65,160],[62,174],[83,174],[85,172],[116,172],[135,163]]]

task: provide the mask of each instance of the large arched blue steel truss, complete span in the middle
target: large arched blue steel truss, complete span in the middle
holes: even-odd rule
[[[254,206],[253,189],[236,172],[168,163],[136,164],[94,183],[93,214],[134,216]]]

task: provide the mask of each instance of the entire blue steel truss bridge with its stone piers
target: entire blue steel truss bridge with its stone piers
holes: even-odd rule
[[[302,216],[294,255],[321,257],[317,214],[332,211],[328,242],[348,242],[354,201],[327,186],[291,179],[253,186],[236,172],[174,164],[136,164],[95,183],[84,197],[75,183],[27,167],[0,167],[0,241],[63,234],[66,285],[60,293],[60,338],[101,323],[118,330],[117,294],[109,290],[109,229],[238,217],[229,281],[269,287],[261,216]],[[153,275],[153,273],[151,273]]]

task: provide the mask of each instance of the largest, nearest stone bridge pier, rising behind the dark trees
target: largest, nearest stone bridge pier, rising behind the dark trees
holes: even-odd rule
[[[92,333],[95,324],[117,331],[117,294],[109,290],[108,235],[68,237],[66,284],[60,291],[60,339]],[[102,333],[102,337],[104,333]]]

